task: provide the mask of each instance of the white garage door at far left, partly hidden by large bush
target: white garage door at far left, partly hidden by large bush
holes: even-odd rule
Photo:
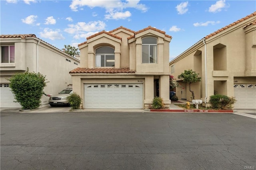
[[[13,101],[14,96],[9,84],[0,84],[0,107],[21,107],[19,103],[15,103]]]

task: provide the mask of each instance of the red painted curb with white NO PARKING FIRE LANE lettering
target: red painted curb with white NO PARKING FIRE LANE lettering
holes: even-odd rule
[[[201,109],[194,109],[194,110],[184,110],[184,109],[150,109],[150,111],[157,111],[157,112],[215,112],[215,113],[233,113],[233,110],[201,110]]]

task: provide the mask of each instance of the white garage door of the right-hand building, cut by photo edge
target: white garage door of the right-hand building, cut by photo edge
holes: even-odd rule
[[[234,109],[256,109],[256,84],[234,84]]]

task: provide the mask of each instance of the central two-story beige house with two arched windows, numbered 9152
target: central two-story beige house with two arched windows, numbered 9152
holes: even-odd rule
[[[84,108],[151,107],[155,96],[169,100],[169,43],[154,27],[101,31],[78,45],[81,67],[70,74]]]

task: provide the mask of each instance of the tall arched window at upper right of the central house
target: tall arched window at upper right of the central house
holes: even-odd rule
[[[145,37],[142,39],[142,63],[157,63],[157,39]]]

